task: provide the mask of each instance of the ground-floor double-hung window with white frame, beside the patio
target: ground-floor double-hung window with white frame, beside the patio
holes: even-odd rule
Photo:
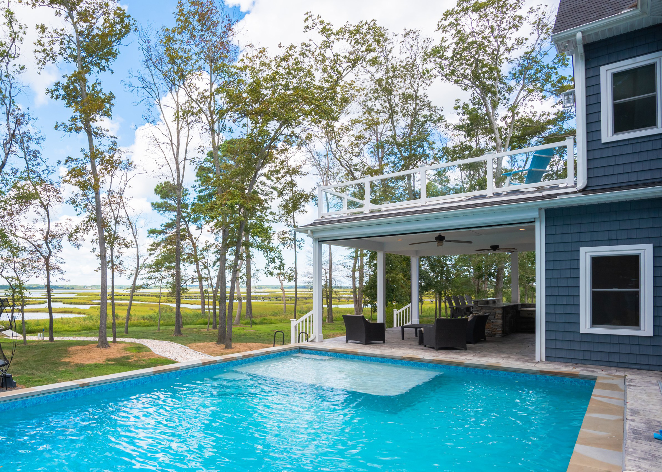
[[[653,336],[653,245],[579,252],[580,332]]]

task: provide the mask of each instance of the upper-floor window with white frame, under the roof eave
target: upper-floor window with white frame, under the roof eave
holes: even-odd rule
[[[662,52],[600,68],[602,142],[662,133]]]

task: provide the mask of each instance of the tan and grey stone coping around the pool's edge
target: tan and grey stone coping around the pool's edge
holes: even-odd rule
[[[621,472],[623,470],[624,450],[624,411],[625,411],[625,376],[607,375],[596,373],[594,369],[544,369],[536,367],[522,367],[507,362],[481,362],[472,359],[463,361],[458,359],[444,359],[443,357],[427,357],[414,354],[385,354],[370,352],[364,349],[311,346],[310,344],[289,344],[275,348],[263,348],[256,351],[226,354],[218,357],[185,361],[169,365],[160,365],[148,369],[138,369],[121,373],[100,375],[89,379],[73,380],[68,382],[40,385],[15,391],[0,393],[0,404],[5,402],[29,399],[40,395],[50,395],[63,391],[94,387],[117,381],[138,379],[162,373],[172,373],[195,367],[222,364],[239,359],[249,359],[265,354],[275,354],[291,350],[308,350],[317,352],[334,352],[338,354],[359,355],[365,357],[381,357],[385,359],[397,359],[402,361],[414,361],[422,363],[434,363],[442,365],[456,365],[459,367],[470,367],[475,369],[492,369],[500,371],[511,371],[517,373],[528,373],[533,375],[554,375],[559,377],[571,377],[575,379],[594,380],[595,386],[591,394],[591,400],[575,443],[573,455],[571,456],[567,472]]]

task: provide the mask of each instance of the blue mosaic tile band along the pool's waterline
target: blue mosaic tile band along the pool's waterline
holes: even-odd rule
[[[470,367],[463,365],[455,365],[439,361],[437,359],[399,359],[399,356],[384,356],[384,355],[366,355],[366,354],[350,354],[346,352],[337,352],[334,350],[316,349],[312,346],[286,346],[281,349],[267,349],[261,352],[244,353],[242,355],[228,355],[207,361],[205,363],[181,363],[170,364],[164,366],[165,371],[160,372],[156,369],[143,369],[140,371],[129,371],[122,373],[128,378],[113,378],[113,375],[96,377],[95,379],[83,379],[81,381],[72,381],[63,383],[62,385],[44,385],[42,387],[34,387],[34,392],[28,392],[24,389],[26,395],[18,399],[11,399],[14,395],[2,395],[0,397],[0,411],[15,410],[19,408],[28,408],[38,404],[45,404],[50,402],[74,399],[87,395],[95,395],[96,393],[103,393],[118,389],[135,387],[136,385],[147,385],[161,381],[168,381],[177,379],[182,375],[190,375],[191,373],[205,373],[211,371],[222,371],[224,369],[231,369],[238,365],[253,363],[267,359],[274,359],[285,355],[293,354],[316,354],[324,355],[327,357],[338,357],[342,359],[354,359],[360,361],[368,361],[375,363],[389,363],[393,365],[403,365],[406,367],[422,367],[427,369],[466,372],[466,373],[479,373],[482,375],[495,375],[498,377],[508,377],[511,379],[528,379],[545,381],[551,383],[564,383],[568,385],[594,385],[595,378],[578,378],[576,375],[566,376],[562,371],[558,373],[547,373],[544,371],[516,371],[508,369],[507,367],[499,367],[493,365],[471,365]],[[93,383],[94,385],[90,385]],[[48,387],[54,387],[58,391],[48,391]],[[46,390],[46,391],[44,391]],[[21,390],[11,392],[21,394]]]

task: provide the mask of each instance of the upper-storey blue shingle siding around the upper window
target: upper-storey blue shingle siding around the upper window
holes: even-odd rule
[[[587,189],[662,183],[662,134],[602,144],[600,66],[662,50],[662,25],[585,46]]]

